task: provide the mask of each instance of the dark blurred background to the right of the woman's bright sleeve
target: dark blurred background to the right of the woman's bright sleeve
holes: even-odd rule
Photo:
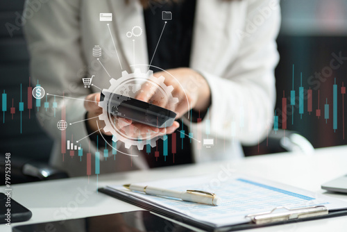
[[[314,147],[330,147],[347,144],[347,130],[344,139],[343,119],[347,122],[347,97],[342,104],[341,83],[347,85],[347,1],[346,0],[282,0],[282,25],[278,37],[280,63],[276,68],[277,113],[282,112],[282,97],[285,94],[290,105],[290,91],[293,89],[298,98],[300,86],[312,89],[312,113],[307,111],[307,99],[304,101],[304,113],[299,114],[298,102],[288,110],[287,129],[298,131]],[[335,55],[343,56],[337,63]],[[335,61],[332,62],[332,60]],[[338,68],[330,68],[330,63]],[[332,72],[330,72],[332,71]],[[302,73],[302,85],[301,85]],[[321,73],[321,74],[320,74]],[[316,76],[321,77],[316,78]],[[333,85],[337,83],[337,129],[333,129]],[[319,104],[318,104],[319,90]],[[284,92],[283,92],[284,91]],[[328,99],[328,100],[327,100]],[[325,104],[329,105],[329,119],[325,120]],[[321,109],[321,117],[316,117],[316,109]],[[345,115],[343,111],[345,110]],[[279,117],[281,115],[279,114]],[[281,128],[281,118],[279,118]],[[293,120],[293,121],[292,121]],[[345,124],[346,124],[345,122]],[[346,129],[346,126],[345,126]],[[246,147],[246,155],[265,154],[269,151],[266,142],[259,146]]]

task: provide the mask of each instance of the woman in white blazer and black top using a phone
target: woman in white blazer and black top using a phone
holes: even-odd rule
[[[26,7],[35,3],[28,0]],[[96,150],[101,151],[101,173],[242,158],[241,144],[257,143],[272,124],[278,4],[276,0],[40,3],[25,24],[33,81],[38,80],[51,94],[64,92],[66,97],[87,100],[65,98],[62,103],[61,97],[49,97],[50,106],[58,102],[56,117],[48,117],[41,108],[39,117],[46,115],[44,128],[56,139],[51,164],[78,176],[86,174],[85,153],[94,156]],[[112,19],[103,21],[101,13],[112,13]],[[92,55],[95,45],[102,49],[99,60]],[[178,113],[177,122],[156,129],[124,119],[123,126],[117,126],[137,126],[139,130],[130,137],[144,131],[152,131],[153,138],[167,134],[169,148],[158,140],[151,151],[135,146],[126,149],[118,140],[118,152],[112,154],[99,132],[93,133],[98,130],[97,120],[100,128],[105,126],[97,117],[102,109],[94,101],[100,100],[100,88],[110,86],[110,76],[117,79],[123,71],[131,74],[149,68],[154,76],[164,76],[165,85],[174,87],[172,94],[178,103],[172,110]],[[92,75],[94,85],[85,88],[81,78]],[[139,87],[143,91],[137,99],[151,100],[148,86]],[[67,127],[66,136],[81,144],[81,160],[70,158],[68,152],[62,154],[56,124],[63,108],[68,123],[78,122]],[[108,140],[110,133],[101,132]],[[204,138],[213,139],[213,146],[203,147]],[[102,154],[105,146],[110,151],[107,159]],[[160,151],[158,157],[155,151]]]

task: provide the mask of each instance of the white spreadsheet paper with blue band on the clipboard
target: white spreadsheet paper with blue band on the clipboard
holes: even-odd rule
[[[219,182],[211,181],[208,176],[198,176],[136,184],[178,191],[202,190],[217,194],[221,198],[221,204],[210,206],[133,192],[126,190],[121,185],[108,186],[108,188],[121,192],[121,194],[140,199],[144,204],[152,204],[163,210],[171,210],[177,215],[190,217],[214,226],[250,222],[250,219],[245,217],[246,215],[264,213],[278,206],[287,208],[326,206],[328,210],[347,208],[345,201],[281,183],[255,179],[251,176],[232,176],[226,181]]]

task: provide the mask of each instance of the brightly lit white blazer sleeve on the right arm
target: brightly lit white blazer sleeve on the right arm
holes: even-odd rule
[[[262,24],[252,25],[261,15],[259,9],[269,4],[273,5],[271,16]],[[273,122],[274,69],[279,60],[276,45],[280,28],[279,3],[277,0],[248,1],[246,19],[240,20],[246,20],[244,33],[235,36],[241,44],[226,73],[216,76],[197,70],[208,81],[212,94],[209,113],[203,118],[202,127],[219,138],[255,144],[264,138]],[[252,26],[255,26],[253,30]],[[198,124],[192,126],[198,130]]]

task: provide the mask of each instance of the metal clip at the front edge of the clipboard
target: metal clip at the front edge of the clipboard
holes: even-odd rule
[[[280,210],[285,209],[285,210]],[[280,210],[279,212],[277,212]],[[327,215],[328,208],[325,206],[312,206],[303,208],[287,208],[279,206],[273,208],[273,210],[264,213],[255,213],[246,215],[246,217],[251,218],[252,222],[255,224],[267,224],[272,222],[285,222],[289,219],[299,219],[305,217],[316,217],[320,215]]]

